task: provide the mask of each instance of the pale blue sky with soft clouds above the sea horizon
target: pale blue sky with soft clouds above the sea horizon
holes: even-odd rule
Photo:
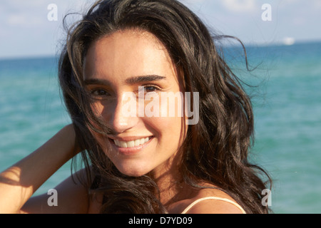
[[[284,41],[321,41],[321,0],[180,0],[210,28],[244,43],[269,45]],[[59,51],[62,18],[83,11],[89,0],[1,0],[0,58],[48,56]],[[49,4],[58,18],[49,21]],[[271,21],[263,21],[263,4],[271,6]]]

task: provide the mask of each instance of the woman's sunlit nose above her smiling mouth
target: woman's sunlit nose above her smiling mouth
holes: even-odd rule
[[[112,105],[106,107],[104,118],[107,118],[107,123],[116,133],[123,133],[138,124],[138,116],[136,113],[136,96],[131,93],[123,93]]]

